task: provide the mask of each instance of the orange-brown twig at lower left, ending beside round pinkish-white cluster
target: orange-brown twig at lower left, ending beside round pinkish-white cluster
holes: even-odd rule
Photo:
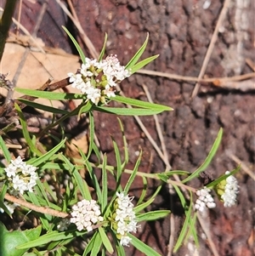
[[[42,206],[37,206],[32,204],[31,202],[26,202],[20,198],[17,198],[15,196],[10,196],[8,193],[5,194],[4,198],[6,200],[8,200],[9,202],[14,202],[16,204],[19,204],[25,208],[29,208],[32,211],[35,211],[37,213],[44,213],[44,214],[49,214],[52,216],[56,216],[59,218],[67,218],[69,216],[68,213],[63,213],[63,212],[59,212],[57,210],[51,209],[51,208],[44,208]]]

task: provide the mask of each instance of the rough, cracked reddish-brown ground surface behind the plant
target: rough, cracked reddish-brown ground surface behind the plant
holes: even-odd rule
[[[107,54],[117,54],[123,64],[144,43],[146,32],[150,33],[148,48],[144,57],[160,54],[146,68],[171,74],[197,77],[201,70],[223,1],[212,1],[208,9],[203,9],[206,1],[72,1],[82,28],[100,50],[105,32],[108,34]],[[247,6],[237,6],[238,1],[230,4],[221,33],[215,43],[211,59],[207,65],[207,77],[229,77],[251,72],[246,65],[246,58],[255,62],[254,55],[254,2],[243,1]],[[32,31],[40,10],[40,4],[23,1],[21,23]],[[243,16],[238,16],[239,14]],[[242,17],[242,19],[240,18]],[[240,20],[238,20],[240,19]],[[52,47],[64,48],[72,52],[71,43],[66,40],[60,26],[68,26],[76,35],[71,22],[67,20],[59,6],[49,1],[48,13],[45,14],[37,37]],[[241,26],[241,27],[240,27]],[[79,37],[77,37],[80,40]],[[81,41],[80,41],[81,42]],[[89,56],[88,49],[84,46]],[[75,70],[73,70],[75,71]],[[64,78],[64,77],[63,77]],[[254,82],[254,81],[253,81]],[[122,91],[129,97],[146,100],[141,87],[145,84],[152,99],[160,104],[169,105],[174,111],[159,115],[161,128],[167,145],[168,156],[173,169],[194,171],[207,156],[219,128],[224,128],[224,137],[217,156],[207,168],[207,173],[215,179],[226,170],[236,168],[237,163],[229,158],[229,153],[237,156],[254,172],[255,134],[254,90],[241,92],[231,88],[216,88],[210,83],[201,85],[199,93],[190,99],[194,82],[179,82],[163,77],[135,75],[122,82]],[[101,150],[109,154],[110,163],[114,163],[112,135],[122,145],[122,134],[116,117],[96,113],[96,133]],[[144,156],[140,171],[160,173],[164,164],[156,151],[145,138],[132,117],[122,117],[130,151],[132,168],[137,156],[136,151],[143,150]],[[160,145],[156,134],[153,117],[142,117],[145,127],[152,138]],[[238,205],[224,208],[217,202],[217,208],[210,211],[206,219],[221,256],[254,255],[254,180],[243,170],[236,175],[240,184]],[[149,181],[150,193],[156,189],[154,181]],[[193,182],[200,187],[199,181]],[[142,187],[141,179],[133,185],[134,196],[139,196]],[[150,195],[148,195],[150,196]],[[174,213],[174,241],[184,223],[184,215],[179,211],[176,195],[169,195],[167,186],[163,188],[152,209],[171,209]],[[158,253],[167,255],[167,244],[170,236],[170,220],[164,219],[143,224],[138,236]],[[212,255],[207,240],[202,239],[199,255]],[[142,255],[133,247],[127,248],[127,255]],[[195,255],[186,244],[175,255]]]

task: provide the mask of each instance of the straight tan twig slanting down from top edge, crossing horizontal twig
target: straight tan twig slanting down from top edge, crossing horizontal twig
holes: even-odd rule
[[[198,76],[198,79],[199,81],[196,82],[195,84],[195,88],[193,89],[193,92],[191,94],[191,98],[193,99],[195,97],[195,95],[197,94],[199,88],[200,88],[200,80],[201,80],[201,77],[204,76],[204,73],[207,69],[207,64],[210,60],[210,57],[211,57],[211,54],[212,54],[212,49],[214,48],[214,45],[218,39],[218,29],[219,27],[222,25],[223,21],[224,21],[224,18],[225,18],[225,15],[227,14],[227,10],[229,8],[229,3],[231,2],[231,0],[225,0],[224,2],[224,6],[223,6],[223,9],[221,10],[221,13],[219,14],[219,17],[218,17],[218,21],[217,21],[217,25],[215,26],[215,29],[213,31],[213,34],[212,34],[212,39],[211,39],[211,42],[209,44],[209,47],[207,48],[207,54],[205,56],[205,59],[203,61],[203,64],[201,66],[201,71],[199,72],[199,76]]]

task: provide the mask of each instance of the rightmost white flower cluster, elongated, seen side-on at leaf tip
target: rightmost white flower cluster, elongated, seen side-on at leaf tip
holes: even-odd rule
[[[229,174],[227,171],[225,174]],[[239,191],[239,185],[237,183],[237,179],[233,175],[230,175],[226,179],[226,185],[224,187],[224,194],[221,196],[221,199],[224,201],[224,207],[229,208],[235,205],[236,195]]]

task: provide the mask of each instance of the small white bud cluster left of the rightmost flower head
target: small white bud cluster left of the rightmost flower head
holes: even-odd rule
[[[197,209],[200,212],[203,212],[205,208],[215,208],[216,204],[210,195],[209,189],[207,187],[204,187],[203,189],[196,191],[196,195],[198,198],[195,201],[195,209]]]

